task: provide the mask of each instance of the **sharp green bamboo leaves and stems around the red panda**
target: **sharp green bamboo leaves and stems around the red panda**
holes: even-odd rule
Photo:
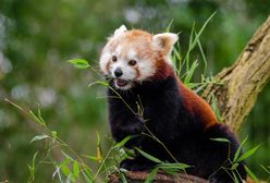
[[[202,89],[202,87],[200,85],[196,85],[197,83],[194,83],[194,85],[189,85],[191,84],[191,80],[195,73],[195,70],[198,66],[197,61],[192,63],[192,66],[189,66],[191,62],[189,62],[189,54],[192,52],[192,50],[195,48],[195,46],[198,46],[201,50],[201,45],[199,41],[199,36],[201,35],[201,33],[204,32],[207,23],[212,19],[214,14],[212,14],[207,21],[206,23],[202,25],[201,29],[199,30],[199,34],[196,34],[196,37],[193,40],[193,34],[196,33],[194,27],[192,29],[192,34],[191,34],[191,38],[189,38],[189,48],[187,50],[186,57],[184,58],[184,61],[182,63],[182,60],[180,58],[181,57],[181,52],[177,51],[177,49],[174,49],[174,56],[176,54],[177,57],[173,57],[172,61],[179,65],[179,68],[175,68],[176,72],[179,73],[179,75],[181,74],[181,70],[182,68],[185,68],[185,74],[183,74],[183,80],[185,82],[185,84],[187,86],[197,86],[200,87],[200,89]],[[169,27],[167,28],[169,29]],[[202,59],[205,59],[205,54],[204,51],[201,51],[201,57]],[[177,60],[179,59],[179,60]],[[73,60],[69,60],[70,63],[72,63],[75,68],[77,69],[88,69],[90,68],[93,71],[95,71],[96,73],[99,74],[99,72],[97,70],[95,70],[86,60],[84,59],[73,59]],[[206,64],[206,62],[204,62]],[[205,65],[207,66],[207,65]],[[99,74],[101,75],[101,74]],[[205,77],[201,77],[205,78]],[[212,78],[212,77],[211,77]],[[209,81],[209,78],[207,77],[206,81]],[[211,81],[211,83],[216,84],[214,81]],[[107,83],[107,81],[101,81],[98,80],[94,83],[90,83],[89,86],[93,86],[94,84],[100,84],[103,85],[106,87],[110,87],[110,85]],[[204,83],[204,80],[201,81],[202,86],[207,86]],[[208,83],[207,83],[208,84]],[[111,88],[111,87],[110,87]],[[114,90],[113,88],[111,88],[112,90]],[[116,93],[114,90],[114,93]],[[123,102],[126,105],[126,107],[135,113],[135,111],[132,110],[132,108],[128,106],[128,103],[126,103],[124,101],[124,99],[116,93],[116,95],[119,96],[119,98],[121,100],[123,100]],[[107,152],[107,155],[102,154],[101,150],[101,142],[100,142],[100,135],[97,132],[97,152],[96,156],[88,156],[88,155],[84,155],[85,158],[87,158],[88,160],[94,160],[97,161],[98,164],[98,169],[95,172],[94,168],[90,168],[89,166],[87,166],[87,163],[82,159],[82,157],[72,149],[72,147],[69,146],[68,143],[65,143],[64,141],[62,141],[57,134],[57,131],[52,131],[50,130],[45,120],[41,117],[41,112],[40,109],[38,109],[38,113],[35,114],[32,110],[26,111],[25,109],[23,109],[22,107],[20,107],[19,105],[5,99],[9,103],[11,103],[12,106],[16,107],[19,110],[23,111],[27,117],[32,118],[32,120],[34,120],[35,122],[37,122],[40,126],[44,127],[44,132],[45,134],[41,135],[36,135],[30,143],[36,142],[36,141],[41,141],[41,139],[46,139],[49,138],[49,145],[46,148],[46,156],[44,156],[41,158],[41,160],[38,161],[38,166],[46,162],[46,163],[50,163],[53,164],[56,170],[54,173],[52,174],[52,180],[54,181],[58,178],[58,181],[60,182],[97,182],[97,181],[102,181],[105,182],[109,174],[112,171],[116,171],[121,174],[121,178],[123,180],[123,182],[126,182],[125,175],[124,175],[124,171],[121,170],[119,168],[119,163],[120,161],[122,161],[123,159],[130,158],[132,159],[133,154],[128,152],[128,149],[124,148],[124,145],[132,139],[135,136],[127,136],[125,137],[122,142],[114,144]],[[143,118],[143,113],[144,113],[144,109],[143,106],[140,106],[140,101],[137,102],[137,107],[138,107],[138,114],[142,115]],[[147,130],[147,132],[151,135],[151,137],[154,139],[156,139],[158,143],[160,143],[163,148],[168,151],[168,154],[171,156],[172,159],[175,160],[175,162],[170,163],[170,162],[165,162],[165,161],[161,161],[160,159],[154,157],[152,155],[149,155],[146,151],[143,151],[142,149],[135,147],[134,150],[136,150],[138,154],[140,154],[142,156],[144,156],[145,158],[149,159],[150,161],[154,161],[157,163],[157,166],[151,170],[151,172],[148,174],[147,179],[146,179],[146,183],[150,183],[152,182],[152,180],[155,179],[155,175],[157,174],[158,170],[162,170],[169,174],[174,175],[176,172],[179,171],[183,171],[185,172],[185,169],[189,168],[191,166],[185,164],[185,163],[181,163],[179,162],[173,155],[168,150],[168,148],[165,147],[165,145],[158,139],[151,132],[150,130],[145,125],[145,129]],[[217,141],[220,143],[230,143],[230,141],[225,139],[225,138],[211,138],[212,141]],[[238,166],[238,163],[241,163],[241,161],[245,160],[246,158],[248,158],[249,156],[251,156],[259,146],[248,150],[247,152],[241,155],[241,148],[244,145],[244,143],[246,143],[247,138],[245,138],[243,141],[243,143],[241,144],[240,148],[237,149],[235,157],[233,159],[233,162],[231,162],[230,159],[228,159],[229,164],[224,163],[221,168],[225,169],[225,170],[233,170],[233,179],[237,182],[237,171],[236,168]],[[62,154],[62,158],[63,160],[59,161],[56,160],[53,158],[52,155],[52,150],[54,150],[56,148],[60,148],[61,154]],[[229,149],[230,150],[230,149]],[[68,152],[69,154],[68,154]],[[30,172],[30,176],[28,179],[28,182],[34,182],[35,181],[35,171],[36,171],[36,157],[38,155],[38,151],[35,152],[34,157],[33,157],[33,162],[32,166],[28,166],[29,168],[29,172]],[[72,156],[74,158],[72,158]],[[111,159],[111,161],[110,161]],[[231,167],[232,164],[232,167]],[[230,167],[228,167],[230,166]],[[256,175],[250,171],[250,169],[248,169],[245,166],[246,171],[248,172],[248,174],[254,178],[257,182],[257,178]],[[234,172],[235,170],[235,172]],[[217,170],[218,171],[218,170]]]

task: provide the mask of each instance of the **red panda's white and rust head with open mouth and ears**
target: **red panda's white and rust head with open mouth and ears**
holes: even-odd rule
[[[121,26],[102,50],[100,69],[113,78],[116,88],[127,90],[154,76],[158,61],[170,62],[169,54],[176,40],[175,34],[151,35]]]

